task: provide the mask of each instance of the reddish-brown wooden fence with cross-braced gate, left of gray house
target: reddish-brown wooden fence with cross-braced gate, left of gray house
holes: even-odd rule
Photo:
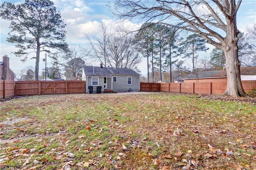
[[[17,81],[16,96],[85,93],[85,81]]]

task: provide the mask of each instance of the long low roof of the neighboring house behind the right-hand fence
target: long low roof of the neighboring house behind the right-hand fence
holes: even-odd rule
[[[242,76],[254,76],[256,75],[256,66],[254,67],[242,67],[240,68],[240,74]],[[198,78],[217,78],[217,77],[226,77],[227,72],[226,70],[214,70],[214,71],[204,71],[198,72]],[[194,79],[196,78],[196,74],[191,73],[188,76],[184,77],[183,79]]]

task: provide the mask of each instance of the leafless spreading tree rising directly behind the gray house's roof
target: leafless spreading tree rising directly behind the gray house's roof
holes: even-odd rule
[[[134,34],[127,34],[126,31],[124,25],[113,30],[102,22],[94,37],[85,35],[92,48],[92,55],[104,66],[134,68],[140,63],[141,57],[136,50]]]

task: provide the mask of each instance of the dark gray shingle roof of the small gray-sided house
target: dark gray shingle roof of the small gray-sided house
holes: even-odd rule
[[[113,75],[140,75],[130,68],[84,66],[86,76],[112,77]]]

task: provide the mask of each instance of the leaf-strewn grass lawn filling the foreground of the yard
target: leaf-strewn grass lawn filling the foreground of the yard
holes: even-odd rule
[[[0,111],[0,169],[256,169],[256,102],[242,98],[43,95]]]

